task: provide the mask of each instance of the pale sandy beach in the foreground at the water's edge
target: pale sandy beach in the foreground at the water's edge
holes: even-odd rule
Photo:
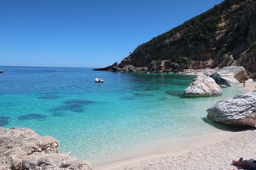
[[[254,158],[256,131],[215,132],[200,136],[188,148],[171,153],[111,162],[94,169],[237,169],[232,159]]]

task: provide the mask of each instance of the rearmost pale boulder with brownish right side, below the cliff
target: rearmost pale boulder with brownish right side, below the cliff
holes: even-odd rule
[[[238,80],[240,83],[248,80],[248,75],[246,70],[242,66],[227,66],[220,69],[220,72],[229,72],[233,74],[233,76]]]

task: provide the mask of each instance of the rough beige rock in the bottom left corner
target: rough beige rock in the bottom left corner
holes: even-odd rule
[[[0,128],[0,169],[92,169],[68,153],[59,153],[59,142],[31,129]]]

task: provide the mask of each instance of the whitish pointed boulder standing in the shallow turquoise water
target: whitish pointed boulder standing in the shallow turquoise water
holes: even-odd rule
[[[184,96],[200,97],[200,96],[221,96],[220,86],[209,76],[198,76],[184,90]]]

